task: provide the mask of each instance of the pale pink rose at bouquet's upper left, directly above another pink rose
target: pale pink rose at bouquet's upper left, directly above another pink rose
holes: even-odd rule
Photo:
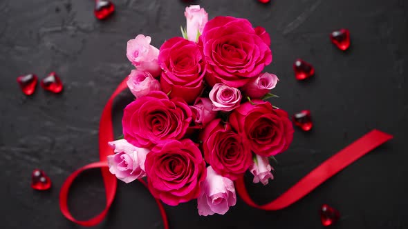
[[[141,71],[150,72],[158,77],[161,68],[158,65],[158,49],[150,45],[151,37],[138,34],[135,39],[127,41],[126,56],[129,61]]]

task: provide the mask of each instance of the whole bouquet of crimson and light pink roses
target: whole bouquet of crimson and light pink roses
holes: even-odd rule
[[[272,62],[266,30],[234,17],[208,21],[200,6],[185,17],[183,37],[160,50],[142,34],[127,43],[136,100],[124,108],[124,139],[109,142],[109,170],[126,183],[147,177],[171,206],[197,199],[199,215],[223,215],[247,170],[254,183],[273,179],[269,158],[288,148],[293,126],[264,101],[278,81],[263,72]]]

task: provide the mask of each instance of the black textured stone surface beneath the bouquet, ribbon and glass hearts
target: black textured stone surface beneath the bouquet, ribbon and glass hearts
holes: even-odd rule
[[[131,64],[127,40],[148,34],[152,44],[180,36],[187,3],[178,0],[114,0],[108,21],[93,16],[91,0],[0,0],[0,228],[81,228],[59,212],[58,194],[74,170],[98,160],[98,122],[102,108]],[[171,228],[323,228],[319,207],[341,212],[333,228],[408,228],[408,2],[405,0],[207,0],[200,3],[210,18],[231,15],[263,26],[272,38],[279,76],[272,103],[290,114],[310,109],[313,131],[295,131],[290,149],[277,157],[276,179],[251,184],[266,203],[319,163],[358,137],[378,128],[395,138],[324,183],[301,201],[275,212],[256,210],[239,199],[224,215],[199,217],[195,201],[166,206]],[[328,34],[349,28],[352,46],[342,52]],[[299,82],[292,64],[303,58],[316,68],[313,79]],[[21,93],[16,77],[39,78],[56,71],[64,92],[37,87]],[[115,103],[115,134],[121,110]],[[34,168],[53,180],[48,192],[30,188]],[[75,181],[69,205],[87,219],[104,206],[98,170]],[[106,220],[95,228],[163,228],[158,209],[140,183],[119,182]]]

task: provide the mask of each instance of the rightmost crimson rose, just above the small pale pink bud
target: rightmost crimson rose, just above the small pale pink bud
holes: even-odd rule
[[[243,103],[230,115],[231,126],[248,141],[257,155],[269,157],[284,152],[293,140],[293,126],[288,113],[274,109],[260,99]]]

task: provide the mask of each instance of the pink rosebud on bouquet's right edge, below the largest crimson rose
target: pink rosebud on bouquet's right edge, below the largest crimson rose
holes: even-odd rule
[[[265,94],[268,94],[270,90],[275,88],[278,77],[275,74],[268,72],[259,74],[259,77],[253,79],[243,86],[242,90],[251,99],[260,99]]]

